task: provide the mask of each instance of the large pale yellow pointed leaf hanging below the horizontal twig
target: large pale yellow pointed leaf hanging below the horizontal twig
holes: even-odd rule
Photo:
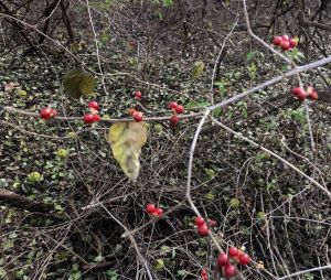
[[[108,140],[114,158],[125,174],[136,182],[139,175],[139,155],[147,141],[143,122],[116,122],[109,128]]]

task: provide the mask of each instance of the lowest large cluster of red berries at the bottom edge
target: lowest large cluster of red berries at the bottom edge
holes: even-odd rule
[[[229,247],[227,255],[221,252],[217,257],[217,265],[226,278],[232,278],[237,273],[236,267],[231,261],[247,266],[250,262],[250,257],[236,247]]]

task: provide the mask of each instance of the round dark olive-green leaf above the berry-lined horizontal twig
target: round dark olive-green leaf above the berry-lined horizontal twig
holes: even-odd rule
[[[94,91],[95,79],[84,69],[70,71],[64,79],[63,87],[66,95],[79,99],[82,96],[89,96]]]

